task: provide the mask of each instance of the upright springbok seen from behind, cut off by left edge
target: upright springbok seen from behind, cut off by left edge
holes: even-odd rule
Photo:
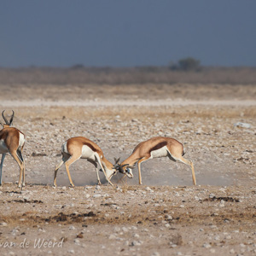
[[[15,116],[15,112],[9,121],[4,116],[4,111],[2,113],[5,124],[3,125],[3,129],[0,131],[0,154],[2,154],[2,160],[0,164],[0,185],[2,185],[2,170],[3,170],[3,160],[7,153],[11,154],[15,161],[20,166],[20,178],[18,186],[21,187],[21,179],[22,186],[25,186],[25,164],[22,157],[22,149],[25,144],[25,135],[16,129],[15,127],[10,127],[13,124],[13,119]]]

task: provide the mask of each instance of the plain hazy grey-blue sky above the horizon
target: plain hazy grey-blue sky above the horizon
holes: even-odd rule
[[[0,67],[256,67],[254,0],[0,0]]]

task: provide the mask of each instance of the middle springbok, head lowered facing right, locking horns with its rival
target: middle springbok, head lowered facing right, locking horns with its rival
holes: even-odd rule
[[[61,146],[62,160],[61,163],[55,166],[55,177],[54,177],[54,186],[56,187],[56,176],[59,168],[65,163],[67,176],[69,178],[70,185],[73,187],[73,181],[69,173],[69,166],[72,165],[75,161],[80,158],[88,160],[91,164],[96,167],[96,174],[98,183],[101,184],[99,177],[97,164],[101,167],[102,172],[104,172],[108,183],[111,183],[110,179],[113,175],[116,174],[116,169],[113,165],[104,157],[102,149],[96,144],[91,142],[88,138],[85,137],[72,137],[69,138]],[[116,163],[117,164],[117,163]]]

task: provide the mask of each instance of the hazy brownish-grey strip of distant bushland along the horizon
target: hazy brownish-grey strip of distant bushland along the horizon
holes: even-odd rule
[[[256,84],[256,67],[0,67],[1,84]]]

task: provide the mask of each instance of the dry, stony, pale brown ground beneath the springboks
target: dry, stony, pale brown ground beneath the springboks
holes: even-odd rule
[[[26,187],[17,188],[7,156],[1,255],[256,255],[255,86],[231,88],[3,86],[1,111],[14,109],[26,134]],[[143,163],[143,186],[137,168],[124,183],[113,177],[113,187],[101,173],[96,186],[94,167],[79,160],[71,166],[76,187],[68,188],[63,166],[54,189],[61,143],[75,136],[96,142],[112,162],[150,137],[175,137],[198,185],[189,166],[155,159]]]

